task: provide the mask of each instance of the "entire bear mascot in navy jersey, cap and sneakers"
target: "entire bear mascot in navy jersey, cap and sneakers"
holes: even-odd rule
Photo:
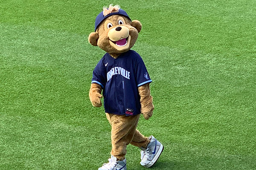
[[[141,149],[140,164],[144,167],[151,167],[163,151],[163,145],[154,136],[147,138],[136,129],[140,113],[149,119],[154,109],[149,88],[152,80],[143,59],[130,50],[141,28],[140,21],[131,21],[119,6],[110,5],[96,17],[95,32],[88,37],[91,45],[107,52],[93,70],[89,92],[95,107],[102,106],[103,94],[111,124],[111,158],[99,170],[126,170],[128,144]]]

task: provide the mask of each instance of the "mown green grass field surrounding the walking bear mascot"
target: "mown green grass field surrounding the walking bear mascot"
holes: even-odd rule
[[[151,169],[255,170],[255,0],[0,0],[0,170],[107,162],[111,127],[88,97],[105,52],[87,38],[110,3],[143,25],[132,49],[155,110],[138,129],[165,147]]]

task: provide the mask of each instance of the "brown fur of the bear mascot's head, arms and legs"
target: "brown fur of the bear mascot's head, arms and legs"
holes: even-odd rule
[[[112,7],[110,6],[108,9],[105,8],[104,14],[107,15],[117,10],[114,8],[115,6],[113,8]],[[119,25],[119,20],[122,20],[124,24]],[[111,23],[113,26],[108,28],[108,23]],[[116,27],[121,27],[122,31],[116,31]],[[121,15],[112,15],[100,24],[96,32],[92,32],[89,35],[88,40],[90,44],[99,46],[99,48],[108,52],[116,59],[120,54],[128,51],[135,44],[141,28],[142,25],[138,20],[130,21],[128,18]],[[127,42],[129,42],[125,47],[119,48],[113,43],[123,38],[127,38]],[[145,119],[149,119],[154,110],[149,84],[147,83],[140,86],[138,88],[138,92],[140,95],[141,113]],[[89,97],[93,106],[102,106],[102,102],[100,100],[102,98],[101,93],[101,86],[97,83],[92,83]],[[126,146],[128,144],[145,148],[150,142],[147,137],[143,136],[138,130],[136,130],[140,114],[135,116],[125,116],[106,113],[106,116],[111,124],[111,155],[115,156],[118,160],[125,159]]]

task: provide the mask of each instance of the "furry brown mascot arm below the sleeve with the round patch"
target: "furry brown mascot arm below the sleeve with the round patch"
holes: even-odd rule
[[[153,98],[150,95],[149,83],[138,88],[140,94],[141,113],[145,119],[149,119],[154,110]]]

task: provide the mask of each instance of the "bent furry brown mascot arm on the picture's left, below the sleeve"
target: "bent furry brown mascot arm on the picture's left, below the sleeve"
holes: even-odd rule
[[[94,107],[102,106],[102,102],[100,101],[100,98],[102,98],[101,92],[102,92],[102,87],[99,84],[97,83],[91,84],[89,97]]]

